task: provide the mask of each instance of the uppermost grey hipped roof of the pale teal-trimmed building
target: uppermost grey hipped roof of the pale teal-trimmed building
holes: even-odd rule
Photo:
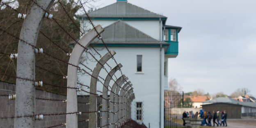
[[[91,18],[167,18],[128,2],[117,1],[88,13]],[[82,17],[87,17],[82,15]]]

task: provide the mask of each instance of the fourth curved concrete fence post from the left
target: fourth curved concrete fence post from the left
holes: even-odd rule
[[[114,75],[114,73],[116,73],[120,68],[122,67],[122,64],[118,64],[117,66],[115,66],[107,75],[107,77],[105,78],[104,81],[104,86],[102,89],[102,97],[107,99],[107,92],[108,92],[108,86],[110,83],[110,80],[112,79],[112,76]],[[107,110],[107,101],[106,100],[102,100],[102,111],[108,111]],[[105,126],[108,124],[108,117],[107,117],[108,112],[103,112],[102,113],[102,123],[101,126]]]

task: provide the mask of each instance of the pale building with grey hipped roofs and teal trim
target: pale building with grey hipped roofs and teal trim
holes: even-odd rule
[[[126,0],[117,0],[112,5],[91,11],[89,16],[94,25],[104,27],[101,37],[109,49],[116,51],[115,59],[123,65],[123,74],[133,84],[135,100],[131,105],[132,119],[147,127],[150,125],[151,128],[164,128],[164,90],[168,89],[168,58],[178,55],[178,32],[181,27],[165,25],[167,17],[137,7]],[[83,30],[91,30],[86,16],[80,16],[80,21]],[[98,39],[91,45],[101,55],[107,53]],[[82,63],[89,67],[96,65],[86,53],[83,54]],[[113,67],[116,65],[112,59],[107,63]],[[102,70],[100,76],[105,78],[106,75]],[[118,71],[116,76],[119,78],[121,73]],[[90,77],[78,73],[78,81],[88,85]],[[112,85],[113,82],[110,83]],[[103,85],[99,83],[97,90],[102,88]],[[137,113],[137,110],[142,110],[142,113]]]

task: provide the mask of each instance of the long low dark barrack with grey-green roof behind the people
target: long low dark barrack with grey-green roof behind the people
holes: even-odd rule
[[[228,97],[214,98],[203,102],[206,112],[227,111],[228,118],[256,117],[256,103],[241,102]]]

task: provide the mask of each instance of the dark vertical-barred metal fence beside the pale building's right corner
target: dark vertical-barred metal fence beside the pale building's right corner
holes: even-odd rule
[[[178,119],[177,107],[183,105],[183,91],[165,91],[165,127],[177,128]]]

